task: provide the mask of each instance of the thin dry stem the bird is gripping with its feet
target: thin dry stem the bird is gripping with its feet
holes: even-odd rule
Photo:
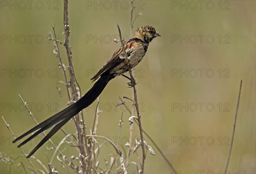
[[[117,28],[119,31],[119,36],[120,36],[120,40],[121,40],[121,44],[122,44],[122,49],[123,52],[125,54],[125,60],[126,63],[129,65],[129,61],[125,52],[125,46],[124,46],[124,40],[122,40],[122,34],[121,34],[121,30],[119,28],[119,25],[117,24]],[[129,68],[129,73],[130,73],[130,77],[131,77],[131,84],[133,86],[133,90],[134,90],[134,100],[135,100],[135,108],[137,111],[137,117],[138,117],[138,123],[139,123],[139,128],[140,128],[140,139],[141,139],[141,147],[142,147],[142,164],[141,164],[141,173],[144,173],[144,166],[145,166],[145,149],[144,149],[144,139],[143,139],[143,129],[142,129],[142,125],[141,125],[141,115],[140,115],[140,111],[139,111],[139,105],[138,105],[138,99],[137,99],[137,90],[135,87],[136,81],[131,73],[131,68]]]

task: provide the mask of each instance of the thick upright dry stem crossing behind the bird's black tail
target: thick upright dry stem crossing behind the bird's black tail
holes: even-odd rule
[[[70,73],[70,84],[71,84],[71,88],[72,88],[72,92],[74,95],[74,99],[75,101],[78,100],[78,94],[76,93],[76,78],[75,78],[75,73],[74,73],[74,68],[73,68],[73,59],[72,59],[72,53],[70,50],[70,45],[69,45],[69,36],[70,36],[70,26],[69,26],[69,22],[68,22],[68,0],[64,0],[64,35],[65,35],[65,41],[64,41],[64,46],[66,48],[67,51],[67,58],[68,58],[68,62],[69,62],[69,66],[71,68],[69,68],[69,73]],[[82,113],[82,111],[81,111]],[[77,129],[77,136],[78,136],[78,141],[79,141],[79,149],[80,149],[80,153],[85,157],[85,151],[84,151],[84,141],[83,141],[83,136],[81,133],[81,129],[79,127],[79,114],[77,114],[75,116],[76,118],[76,129]],[[82,115],[82,127],[83,127],[83,134],[85,135],[85,127],[84,127],[84,117]],[[84,138],[85,143],[87,144],[87,140],[86,138]],[[87,148],[86,148],[87,149]],[[89,150],[87,149],[87,152]],[[86,173],[86,163],[84,160],[82,160],[82,172]]]

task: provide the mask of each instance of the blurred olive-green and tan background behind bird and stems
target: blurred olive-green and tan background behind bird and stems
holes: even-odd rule
[[[18,136],[35,125],[18,94],[31,104],[38,122],[67,107],[67,90],[59,84],[60,97],[55,87],[57,81],[64,79],[58,71],[59,61],[53,54],[53,45],[47,40],[48,32],[52,32],[51,22],[55,24],[58,38],[64,40],[63,2],[0,2],[1,117]],[[242,79],[228,170],[234,174],[256,173],[255,1],[137,0],[135,5],[135,13],[143,15],[134,22],[134,31],[142,25],[152,25],[162,35],[151,42],[135,70],[143,129],[179,173],[224,173]],[[70,45],[76,79],[83,94],[93,85],[90,78],[120,46],[120,43],[112,42],[114,38],[118,39],[116,23],[122,34],[130,37],[130,7],[130,1],[70,1]],[[68,65],[63,46],[60,51],[64,64]],[[127,88],[127,82],[123,77],[113,79],[100,98],[102,112],[97,134],[114,142],[120,116],[125,111],[124,107],[115,108],[114,105],[120,102],[119,96],[132,98],[132,89]],[[131,102],[127,103],[131,108]],[[88,132],[92,129],[95,107],[94,103],[84,109]],[[129,136],[130,116],[129,112],[123,112],[122,145]],[[13,137],[2,118],[0,125],[1,152],[19,157],[20,149],[11,143]],[[69,121],[64,129],[76,132],[73,121]],[[135,144],[135,138],[139,137],[135,124],[133,132]],[[56,144],[63,137],[59,131],[55,135]],[[146,137],[145,140],[156,154],[147,154],[145,173],[171,173],[171,168],[150,140]],[[35,144],[34,140],[26,144],[24,151],[29,153]],[[34,155],[47,165],[45,152],[51,156],[53,150],[43,146]],[[68,158],[78,156],[74,147],[64,153]],[[105,169],[103,158],[111,153],[115,152],[109,144],[102,146],[98,158],[102,169]],[[24,156],[17,161],[29,166]],[[138,163],[135,154],[131,154],[130,161]],[[4,162],[0,165],[2,173],[9,170]],[[56,158],[53,165],[60,173],[73,173],[67,166],[61,168]],[[14,164],[12,173],[20,171],[23,171],[22,166]],[[133,173],[136,167],[130,166],[128,171]]]

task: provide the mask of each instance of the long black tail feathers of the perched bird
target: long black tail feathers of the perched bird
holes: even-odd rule
[[[49,138],[52,137],[61,127],[66,124],[73,116],[78,114],[82,109],[88,107],[90,104],[93,103],[93,101],[96,100],[96,98],[102,93],[106,85],[108,84],[108,81],[113,79],[114,76],[110,76],[108,73],[104,73],[101,75],[100,79],[96,81],[96,83],[93,85],[93,87],[84,94],[83,97],[81,97],[76,103],[70,105],[69,107],[63,109],[62,111],[58,112],[57,114],[53,115],[52,117],[48,118],[47,120],[43,121],[42,123],[38,124],[37,126],[33,127],[29,131],[25,132],[23,135],[20,135],[18,138],[12,141],[12,143],[17,142],[18,140],[24,138],[25,136],[31,134],[32,132],[35,132],[33,135],[31,135],[29,138],[24,140],[22,143],[20,143],[17,147],[21,147],[36,136],[40,135],[41,133],[47,131],[52,126],[54,128],[43,138],[43,140],[40,141],[40,143],[35,147],[35,149],[32,150],[32,152],[29,153],[27,158],[29,158],[32,154],[34,154]]]

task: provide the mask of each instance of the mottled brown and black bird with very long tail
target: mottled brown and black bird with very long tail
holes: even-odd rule
[[[148,50],[149,43],[157,36],[161,36],[154,27],[150,25],[144,25],[138,28],[134,36],[124,44],[125,52],[128,58],[126,62],[125,54],[122,46],[113,53],[111,59],[99,70],[98,73],[93,76],[92,81],[96,81],[93,87],[85,93],[79,100],[71,104],[69,107],[61,110],[57,114],[33,127],[29,131],[20,135],[18,138],[12,141],[12,143],[21,140],[27,135],[35,132],[29,138],[20,143],[17,147],[20,148],[36,136],[42,134],[48,129],[53,128],[49,133],[38,143],[38,145],[26,156],[29,158],[34,154],[52,135],[54,135],[64,124],[66,124],[71,118],[78,114],[82,109],[88,107],[96,98],[102,93],[108,82],[116,76],[123,75],[130,68],[135,67],[145,56]]]

